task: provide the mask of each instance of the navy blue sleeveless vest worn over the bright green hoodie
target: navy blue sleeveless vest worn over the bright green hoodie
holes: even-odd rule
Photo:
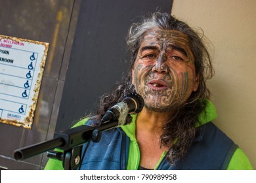
[[[89,141],[83,146],[80,169],[126,169],[129,137],[120,128],[102,132],[100,142]],[[172,165],[163,158],[158,169],[220,170],[226,169],[238,148],[218,127],[209,122],[200,127],[200,133],[182,160]]]

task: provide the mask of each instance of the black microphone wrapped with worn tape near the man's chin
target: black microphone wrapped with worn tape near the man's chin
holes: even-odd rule
[[[101,123],[118,119],[118,126],[125,125],[128,114],[137,114],[143,107],[144,100],[138,93],[128,93],[123,101],[106,111],[101,119]]]

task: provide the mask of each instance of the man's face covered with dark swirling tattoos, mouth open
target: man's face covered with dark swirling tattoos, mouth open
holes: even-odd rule
[[[133,85],[145,107],[173,110],[198,89],[194,56],[179,31],[154,29],[144,36],[132,69]]]

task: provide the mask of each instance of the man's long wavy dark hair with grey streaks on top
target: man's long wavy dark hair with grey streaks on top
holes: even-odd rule
[[[131,69],[137,58],[140,44],[144,35],[151,29],[177,30],[186,34],[195,58],[196,75],[200,77],[200,84],[196,92],[192,92],[186,103],[177,108],[175,116],[170,116],[171,120],[163,127],[161,134],[161,146],[171,146],[167,152],[167,157],[173,163],[177,159],[182,159],[196,136],[196,122],[199,114],[205,109],[203,99],[209,99],[210,92],[205,84],[206,80],[213,76],[211,57],[205,46],[203,33],[198,33],[188,24],[177,20],[167,13],[155,12],[150,18],[143,18],[138,24],[131,25],[127,35],[127,48],[129,51],[129,68],[127,75],[123,77],[112,92],[104,94],[100,99],[100,107],[97,110],[97,118],[101,119],[108,108],[115,105],[127,93],[135,92],[132,84]],[[201,36],[200,36],[201,35]],[[175,143],[174,143],[175,142]]]

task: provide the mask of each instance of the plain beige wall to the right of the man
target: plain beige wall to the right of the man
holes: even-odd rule
[[[209,80],[218,112],[214,123],[256,168],[256,1],[174,0],[171,14],[201,27],[213,43],[215,76]]]

